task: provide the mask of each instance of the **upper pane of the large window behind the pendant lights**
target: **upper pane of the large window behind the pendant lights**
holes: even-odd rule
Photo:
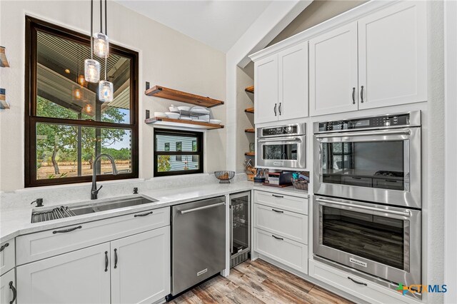
[[[37,116],[130,123],[129,58],[110,54],[107,59],[106,75],[114,84],[114,101],[103,103],[97,97],[98,84],[84,80],[89,45],[38,31],[36,49]],[[105,61],[99,62],[103,80]]]

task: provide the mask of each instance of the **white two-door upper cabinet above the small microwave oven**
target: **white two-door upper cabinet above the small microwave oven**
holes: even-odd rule
[[[256,61],[255,123],[308,116],[308,43]]]

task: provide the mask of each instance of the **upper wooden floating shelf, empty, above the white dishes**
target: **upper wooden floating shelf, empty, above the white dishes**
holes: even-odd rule
[[[152,88],[146,90],[144,93],[147,96],[156,96],[160,98],[170,99],[172,101],[191,103],[197,106],[205,106],[206,108],[224,104],[224,101],[219,101],[217,99],[200,96],[193,93],[178,91],[172,88],[166,88],[164,86],[153,86]]]

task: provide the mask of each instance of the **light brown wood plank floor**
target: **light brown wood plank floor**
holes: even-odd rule
[[[170,303],[352,303],[264,260],[246,261]]]

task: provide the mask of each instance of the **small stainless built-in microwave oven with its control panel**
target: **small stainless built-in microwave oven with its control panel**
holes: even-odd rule
[[[256,166],[301,169],[306,166],[306,123],[257,128]]]

